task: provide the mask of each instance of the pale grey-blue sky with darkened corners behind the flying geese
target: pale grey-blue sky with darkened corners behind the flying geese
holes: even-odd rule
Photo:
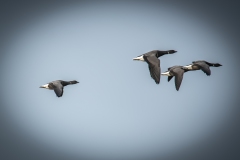
[[[211,147],[224,147],[239,128],[234,4],[40,4],[9,3],[14,13],[2,11],[2,157],[237,156],[235,147]],[[194,60],[223,66],[212,67],[210,77],[187,72],[176,91],[174,80],[162,76],[156,85],[147,64],[132,60],[155,49],[178,51],[160,57],[162,72]],[[65,87],[61,98],[39,89],[58,79],[80,83]],[[230,130],[233,121],[237,128]]]

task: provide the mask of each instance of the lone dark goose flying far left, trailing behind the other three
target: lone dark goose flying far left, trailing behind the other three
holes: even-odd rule
[[[46,88],[46,89],[54,90],[57,97],[62,97],[63,87],[67,86],[69,84],[76,84],[76,83],[79,83],[79,82],[75,81],[75,80],[73,80],[73,81],[56,80],[56,81],[52,81],[50,83],[47,83],[45,85],[42,85],[42,86],[40,86],[40,88]]]

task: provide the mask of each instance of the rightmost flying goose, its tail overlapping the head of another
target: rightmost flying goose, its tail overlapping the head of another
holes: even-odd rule
[[[195,70],[202,70],[206,75],[210,76],[211,75],[211,70],[209,67],[220,67],[222,66],[219,63],[209,63],[204,60],[200,61],[193,61],[192,64],[184,66],[184,68],[187,68],[190,71],[195,71]]]

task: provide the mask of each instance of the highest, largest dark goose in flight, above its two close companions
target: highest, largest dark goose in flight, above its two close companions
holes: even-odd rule
[[[165,54],[173,54],[176,52],[177,51],[175,50],[167,50],[167,51],[153,50],[145,54],[142,54],[136,58],[133,58],[133,60],[147,62],[151,77],[155,80],[156,84],[159,84],[161,68],[160,68],[160,60],[158,58]]]

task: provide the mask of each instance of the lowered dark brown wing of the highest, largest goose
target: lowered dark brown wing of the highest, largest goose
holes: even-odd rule
[[[148,68],[151,77],[155,80],[157,84],[160,83],[160,60],[155,56],[143,56],[144,60],[148,63]]]

